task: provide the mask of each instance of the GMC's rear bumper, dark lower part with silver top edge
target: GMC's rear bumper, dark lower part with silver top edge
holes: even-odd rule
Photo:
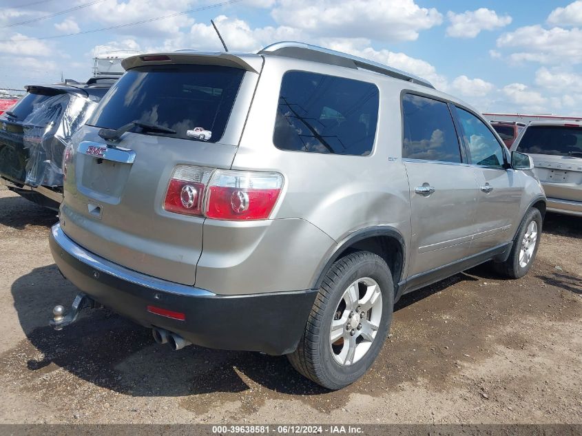
[[[50,249],[63,275],[105,307],[143,326],[167,329],[209,348],[290,353],[299,342],[317,293],[217,295],[160,280],[83,249],[59,224],[51,229]],[[149,313],[149,305],[184,313],[185,320]]]

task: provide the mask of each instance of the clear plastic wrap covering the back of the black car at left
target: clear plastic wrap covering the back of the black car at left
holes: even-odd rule
[[[28,149],[27,185],[63,185],[61,165],[65,147],[96,105],[88,98],[59,94],[48,98],[25,118],[23,144]]]

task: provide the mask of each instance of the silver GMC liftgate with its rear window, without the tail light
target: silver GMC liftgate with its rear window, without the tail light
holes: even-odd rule
[[[74,139],[61,207],[67,236],[129,269],[194,284],[204,218],[166,210],[165,194],[181,177],[177,165],[230,167],[257,78],[216,65],[129,70]],[[159,128],[133,125],[118,141],[98,134],[133,121]],[[211,138],[194,136],[196,127]]]

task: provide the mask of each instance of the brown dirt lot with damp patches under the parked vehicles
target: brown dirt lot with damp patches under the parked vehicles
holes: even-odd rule
[[[104,310],[52,331],[76,292],[55,221],[0,190],[1,423],[582,423],[582,218],[548,216],[526,278],[479,267],[404,297],[371,371],[335,393],[284,357],[173,352]]]

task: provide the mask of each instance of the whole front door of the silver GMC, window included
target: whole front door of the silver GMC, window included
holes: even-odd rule
[[[470,254],[480,253],[511,240],[511,229],[521,203],[521,178],[508,165],[506,148],[492,129],[475,114],[455,107],[468,161],[479,187],[477,196],[477,234]]]

